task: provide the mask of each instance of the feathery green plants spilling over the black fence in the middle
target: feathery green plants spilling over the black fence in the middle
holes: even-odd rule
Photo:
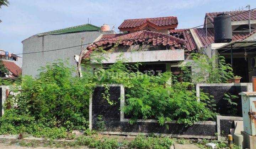
[[[96,75],[101,76],[101,84],[124,84],[127,104],[121,110],[130,117],[130,124],[137,119],[156,119],[160,125],[177,120],[188,126],[195,121],[214,119],[215,113],[207,105],[211,102],[209,96],[202,95],[202,102],[197,102],[195,91],[190,90],[191,83],[174,79],[169,86],[166,82],[175,78],[171,72],[146,75],[138,72],[140,64],[129,65],[121,57],[109,69],[99,69]]]

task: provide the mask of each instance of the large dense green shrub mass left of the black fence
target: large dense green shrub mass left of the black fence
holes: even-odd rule
[[[27,132],[37,137],[65,138],[69,130],[87,129],[94,84],[72,77],[74,69],[62,60],[40,71],[36,78],[25,76],[10,89],[19,94],[10,95],[6,102],[18,106],[5,110],[0,118],[0,134]]]

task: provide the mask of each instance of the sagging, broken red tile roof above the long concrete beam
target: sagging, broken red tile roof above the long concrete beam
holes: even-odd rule
[[[161,36],[161,37],[159,37]],[[87,58],[92,53],[91,51],[94,48],[98,48],[99,46],[109,45],[119,42],[122,45],[132,45],[136,42],[143,42],[144,44],[153,45],[171,45],[176,47],[182,47],[186,43],[185,40],[176,38],[172,35],[165,35],[164,33],[159,32],[152,32],[152,31],[137,31],[134,33],[128,34],[107,34],[103,35],[102,38],[98,41],[93,43],[90,46],[87,46],[87,50],[89,50],[84,58]]]

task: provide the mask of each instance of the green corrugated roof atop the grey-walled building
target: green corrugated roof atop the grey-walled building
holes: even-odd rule
[[[71,33],[71,32],[82,32],[82,31],[99,31],[100,29],[101,29],[100,27],[94,26],[92,24],[83,24],[79,26],[63,28],[63,29],[58,29],[55,31],[49,31],[49,32],[44,32],[39,34],[61,34],[61,33]]]

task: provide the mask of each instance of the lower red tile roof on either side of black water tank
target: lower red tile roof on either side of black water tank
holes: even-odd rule
[[[196,35],[200,42],[202,43],[203,46],[206,45],[206,28],[193,28],[194,32],[196,32]],[[249,33],[238,33],[238,32],[233,32],[233,37],[232,39],[235,41],[238,40],[244,40],[245,37],[248,36]],[[213,28],[208,28],[207,29],[207,42],[208,45],[210,43],[214,43],[214,31]]]

